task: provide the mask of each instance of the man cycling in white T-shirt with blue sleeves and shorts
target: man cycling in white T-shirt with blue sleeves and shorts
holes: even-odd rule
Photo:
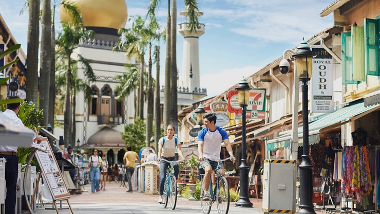
[[[230,144],[230,139],[227,135],[227,132],[215,125],[216,116],[215,114],[206,114],[203,116],[204,126],[206,128],[202,129],[198,133],[198,153],[199,161],[201,166],[204,169],[204,197],[203,200],[210,200],[210,193],[208,192],[208,187],[210,187],[210,178],[213,169],[216,169],[218,162],[211,161],[206,158],[220,159],[220,149],[222,141],[224,146],[232,157],[231,161],[235,163],[234,153]],[[223,163],[219,163],[221,174],[224,175],[224,166]]]

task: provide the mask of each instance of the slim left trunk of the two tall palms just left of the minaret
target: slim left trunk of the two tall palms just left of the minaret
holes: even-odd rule
[[[170,0],[168,1],[170,7]],[[164,87],[164,129],[170,123],[170,10],[166,20],[166,61],[165,61],[165,87]]]

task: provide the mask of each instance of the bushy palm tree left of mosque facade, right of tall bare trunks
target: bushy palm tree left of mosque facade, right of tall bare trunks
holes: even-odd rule
[[[66,93],[65,93],[65,112],[64,112],[64,138],[70,139],[71,132],[71,123],[72,123],[72,112],[71,112],[71,95],[72,95],[72,87],[74,85],[73,77],[71,73],[71,55],[73,54],[73,50],[78,48],[81,41],[86,41],[90,38],[93,38],[93,31],[86,30],[83,27],[82,19],[80,18],[79,9],[77,6],[69,5],[73,8],[72,21],[66,22],[62,21],[62,31],[58,33],[58,38],[56,39],[56,53],[59,56],[59,59],[62,62],[66,62],[67,72],[66,72]],[[84,66],[84,76],[90,82],[94,82],[95,76],[93,74],[92,68],[86,62],[83,62],[84,59],[81,55],[77,54],[79,58],[79,62],[82,62]],[[68,145],[67,140],[65,141],[65,146]]]

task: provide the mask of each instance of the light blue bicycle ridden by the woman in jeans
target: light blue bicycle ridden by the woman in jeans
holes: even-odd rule
[[[162,193],[163,206],[166,207],[168,203],[168,198],[170,198],[170,207],[174,210],[177,204],[177,180],[174,175],[174,163],[182,162],[180,161],[167,161],[166,159],[161,158],[162,161],[166,161],[170,164],[170,173],[166,172],[164,191]],[[160,160],[160,161],[161,161]]]

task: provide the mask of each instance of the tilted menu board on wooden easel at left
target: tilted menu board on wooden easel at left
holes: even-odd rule
[[[40,164],[46,183],[48,183],[53,200],[69,198],[70,193],[67,189],[63,174],[56,162],[54,153],[46,137],[42,137],[42,142],[38,146],[43,147],[45,152],[37,151],[35,156]]]

